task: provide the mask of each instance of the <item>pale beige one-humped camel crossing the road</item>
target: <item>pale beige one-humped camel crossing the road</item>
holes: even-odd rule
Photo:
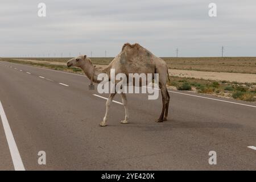
[[[146,48],[143,48],[139,44],[129,44],[126,43],[122,47],[122,51],[112,60],[112,62],[108,65],[108,67],[100,70],[96,68],[92,61],[86,55],[80,55],[76,58],[68,60],[67,67],[79,67],[81,68],[85,75],[90,79],[91,84],[93,82],[99,83],[97,77],[100,73],[106,73],[110,78],[110,69],[115,69],[115,74],[125,73],[125,75],[129,75],[129,73],[154,73],[159,74],[159,88],[162,93],[162,113],[160,114],[159,119],[156,122],[163,122],[167,120],[168,116],[168,106],[170,102],[170,96],[166,88],[167,76],[170,81],[168,75],[168,67],[164,60],[160,59],[153,55]],[[141,86],[141,85],[140,85]],[[116,93],[110,93],[108,100],[106,101],[106,113],[103,118],[103,121],[100,123],[100,126],[107,126],[109,108],[113,101],[113,98]],[[129,120],[129,112],[127,108],[127,98],[125,93],[121,93],[122,103],[125,107],[125,119],[121,121],[121,123],[128,123]]]

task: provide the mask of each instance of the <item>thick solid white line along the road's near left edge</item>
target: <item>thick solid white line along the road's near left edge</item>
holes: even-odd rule
[[[5,136],[6,136],[9,150],[11,153],[11,159],[13,159],[14,169],[15,171],[25,171],[24,165],[22,163],[22,159],[20,158],[20,155],[19,155],[18,147],[16,146],[13,133],[11,132],[11,128],[7,121],[5,111],[3,110],[1,101],[0,101],[0,115],[3,123],[3,130],[5,130]]]

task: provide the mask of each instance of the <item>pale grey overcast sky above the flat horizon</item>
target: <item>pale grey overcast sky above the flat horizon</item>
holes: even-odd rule
[[[1,0],[0,56],[115,56],[126,42],[156,56],[256,56],[256,1]]]

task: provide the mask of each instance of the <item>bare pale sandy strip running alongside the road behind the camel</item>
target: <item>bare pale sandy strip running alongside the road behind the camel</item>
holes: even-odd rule
[[[30,61],[34,63],[57,64],[65,65],[66,63],[53,62],[53,61],[39,61],[39,60],[24,60],[14,59],[19,61]],[[97,68],[105,68],[107,65],[96,65]],[[226,73],[226,72],[204,72],[204,71],[189,71],[183,69],[169,69],[170,76],[190,77],[190,78],[203,78],[205,80],[225,80],[237,82],[256,82],[256,74],[247,73]]]

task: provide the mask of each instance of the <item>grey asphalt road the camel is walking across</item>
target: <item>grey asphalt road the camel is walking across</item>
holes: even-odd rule
[[[168,121],[156,123],[161,98],[129,94],[130,123],[113,103],[100,127],[106,100],[88,85],[84,76],[0,61],[0,169],[256,169],[255,103],[170,90]]]

